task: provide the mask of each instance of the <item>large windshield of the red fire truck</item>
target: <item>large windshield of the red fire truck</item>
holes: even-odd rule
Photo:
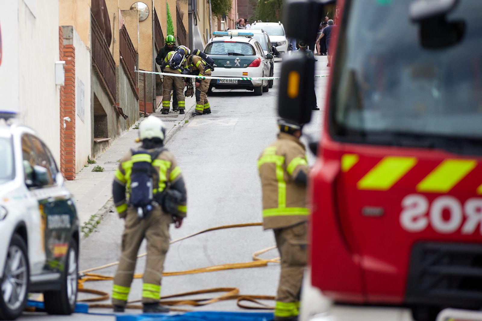
[[[448,22],[464,27],[464,36],[438,49],[421,45],[420,25],[409,18],[412,1],[346,2],[331,86],[334,138],[458,138],[480,148],[480,0],[461,0],[447,14]]]

